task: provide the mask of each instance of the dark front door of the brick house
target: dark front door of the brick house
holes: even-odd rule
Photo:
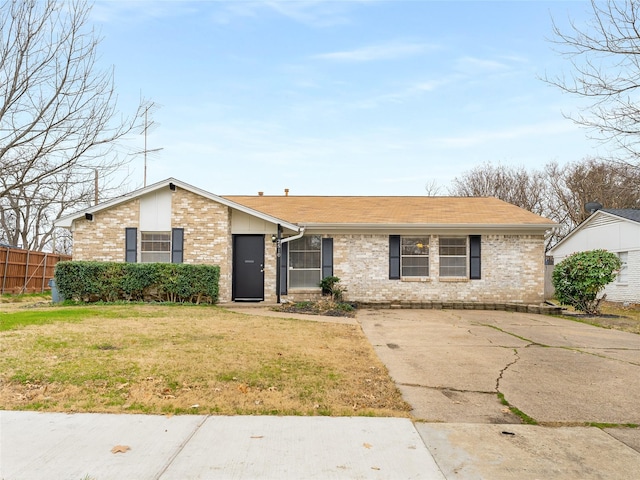
[[[233,299],[264,300],[264,235],[233,237]]]

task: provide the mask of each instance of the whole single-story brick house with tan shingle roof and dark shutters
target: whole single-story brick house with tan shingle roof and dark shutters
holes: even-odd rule
[[[68,215],[74,260],[220,266],[220,301],[544,300],[555,223],[496,198],[217,196],[170,178]],[[276,288],[278,286],[278,288]]]

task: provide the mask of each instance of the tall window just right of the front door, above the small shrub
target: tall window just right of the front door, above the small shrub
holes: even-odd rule
[[[318,288],[322,280],[322,239],[309,235],[289,243],[289,287]]]

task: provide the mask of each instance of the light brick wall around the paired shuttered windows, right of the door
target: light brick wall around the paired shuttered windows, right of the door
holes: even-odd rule
[[[345,298],[359,302],[499,302],[544,301],[544,238],[483,235],[482,279],[438,276],[438,236],[430,237],[430,276],[425,280],[389,280],[387,235],[333,235],[334,275],[346,287]],[[290,291],[288,299],[312,297]]]

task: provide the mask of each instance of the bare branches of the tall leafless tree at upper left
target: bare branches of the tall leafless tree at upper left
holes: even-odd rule
[[[117,115],[89,12],[83,0],[0,4],[0,198],[42,195],[49,181],[82,183],[88,169],[105,175],[120,162],[114,145],[138,116]]]

